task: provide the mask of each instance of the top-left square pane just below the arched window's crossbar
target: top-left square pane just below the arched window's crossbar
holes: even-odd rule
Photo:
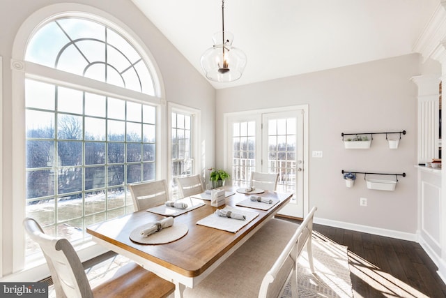
[[[25,80],[26,107],[54,110],[54,94],[56,87],[34,80]]]

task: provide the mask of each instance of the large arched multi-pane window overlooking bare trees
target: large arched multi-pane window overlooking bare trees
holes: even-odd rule
[[[127,184],[157,176],[160,87],[151,61],[109,22],[54,17],[26,46],[26,216],[82,241],[133,211]],[[31,69],[31,70],[29,70]],[[38,251],[31,242],[26,255]]]

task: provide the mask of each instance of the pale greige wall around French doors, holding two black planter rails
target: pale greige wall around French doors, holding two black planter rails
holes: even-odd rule
[[[302,57],[305,59],[305,57]],[[417,230],[417,88],[420,56],[410,54],[355,66],[285,77],[217,90],[217,135],[223,114],[249,109],[309,104],[309,206],[320,221],[355,230],[415,239]],[[403,131],[399,149],[388,149],[385,135],[374,135],[371,149],[346,150],[341,133]],[[217,166],[223,165],[217,138]],[[373,191],[358,174],[346,188],[341,170],[406,173],[395,191]],[[371,176],[368,176],[372,178]],[[394,177],[373,177],[394,179]],[[368,199],[360,207],[360,198]],[[344,225],[346,223],[346,225]]]

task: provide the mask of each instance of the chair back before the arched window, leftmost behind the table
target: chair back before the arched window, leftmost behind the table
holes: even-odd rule
[[[169,200],[169,188],[165,179],[129,184],[134,211],[145,210],[164,204]]]

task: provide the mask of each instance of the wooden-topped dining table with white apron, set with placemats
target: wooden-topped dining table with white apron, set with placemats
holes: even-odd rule
[[[249,204],[245,205],[249,207],[238,205],[243,202],[249,203],[251,195],[243,193],[245,188],[223,186],[222,189],[225,191],[226,198],[224,198],[224,205],[220,207],[211,206],[210,200],[197,199],[204,198],[208,193],[203,193],[201,197],[197,198],[191,196],[194,202],[199,200],[203,204],[174,217],[175,225],[185,227],[187,232],[179,239],[168,243],[142,244],[130,239],[130,234],[138,227],[166,218],[164,215],[147,210],[90,225],[86,228],[86,232],[91,234],[96,243],[137,262],[145,269],[174,283],[176,285],[175,297],[183,297],[185,287],[194,288],[194,285],[206,278],[263,224],[275,216],[277,211],[282,209],[292,197],[292,193],[277,193],[275,191],[259,193],[257,191],[257,196],[273,200],[274,204],[268,206],[268,209],[256,209],[255,206]],[[247,190],[245,189],[245,191]],[[224,208],[254,214],[255,217],[250,218],[249,222],[243,223],[243,227],[239,230],[231,232],[200,224],[204,223],[207,218],[215,216],[217,209]],[[238,221],[233,218],[228,218],[228,220],[228,223]],[[165,229],[165,232],[169,232],[169,228]]]

